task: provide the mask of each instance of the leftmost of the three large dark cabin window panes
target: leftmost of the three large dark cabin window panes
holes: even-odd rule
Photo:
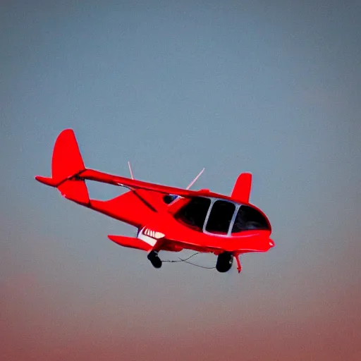
[[[179,210],[176,219],[197,231],[202,231],[210,204],[211,200],[208,198],[194,197]]]

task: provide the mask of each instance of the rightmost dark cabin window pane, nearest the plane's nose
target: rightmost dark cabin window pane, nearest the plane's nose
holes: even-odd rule
[[[252,229],[269,229],[267,220],[263,214],[249,206],[240,206],[235,216],[232,233],[250,231]]]

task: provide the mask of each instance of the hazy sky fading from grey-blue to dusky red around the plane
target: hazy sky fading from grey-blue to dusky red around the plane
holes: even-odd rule
[[[361,360],[360,1],[60,3],[1,1],[0,359]],[[252,171],[276,247],[153,269],[35,181],[64,128],[143,181]]]

